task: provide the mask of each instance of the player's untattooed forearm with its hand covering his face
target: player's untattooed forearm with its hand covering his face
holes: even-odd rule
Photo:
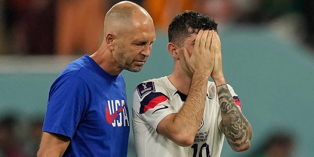
[[[157,132],[181,146],[194,142],[204,112],[207,84],[213,68],[214,46],[211,46],[211,31],[200,31],[196,37],[194,52],[189,56],[184,50],[184,58],[193,72],[187,99],[178,113],[164,117],[157,126]]]

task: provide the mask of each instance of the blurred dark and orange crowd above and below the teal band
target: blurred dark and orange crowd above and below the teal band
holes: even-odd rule
[[[105,12],[118,1],[122,0],[0,0],[0,58],[92,54],[103,39]],[[195,10],[213,17],[219,31],[232,25],[267,26],[283,39],[314,52],[314,0],[131,1],[147,9],[157,34],[166,35],[176,14]],[[44,116],[21,120],[15,113],[1,113],[5,114],[0,115],[0,157],[35,157]],[[260,146],[247,157],[291,156],[293,131],[262,136]]]

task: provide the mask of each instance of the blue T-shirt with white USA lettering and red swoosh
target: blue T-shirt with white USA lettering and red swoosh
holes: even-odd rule
[[[125,81],[84,55],[53,82],[43,131],[71,138],[63,157],[127,157],[130,132]]]

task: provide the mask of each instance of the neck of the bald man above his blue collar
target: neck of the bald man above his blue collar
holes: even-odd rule
[[[118,67],[112,53],[104,44],[92,55],[92,59],[110,75],[117,76],[122,72],[122,68]]]

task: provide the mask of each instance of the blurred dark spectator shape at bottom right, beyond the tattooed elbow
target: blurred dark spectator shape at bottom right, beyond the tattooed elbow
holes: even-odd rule
[[[293,152],[293,137],[286,131],[272,133],[258,150],[246,157],[290,157]]]

